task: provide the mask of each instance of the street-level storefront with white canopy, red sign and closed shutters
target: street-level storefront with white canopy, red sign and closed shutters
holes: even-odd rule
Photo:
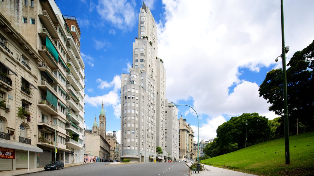
[[[0,139],[0,171],[37,167],[37,146]]]

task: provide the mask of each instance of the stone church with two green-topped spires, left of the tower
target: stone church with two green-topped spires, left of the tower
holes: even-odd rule
[[[99,126],[96,121],[93,124],[93,129],[85,129],[85,157],[88,162],[91,162],[91,158],[97,159],[97,161],[110,160],[110,144],[106,140],[106,113],[104,109],[104,103],[101,104],[101,110],[99,114]]]

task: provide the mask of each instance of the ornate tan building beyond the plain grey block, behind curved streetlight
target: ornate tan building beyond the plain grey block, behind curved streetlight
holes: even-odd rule
[[[193,147],[194,132],[192,127],[187,123],[187,119],[183,119],[182,115],[178,119],[180,126],[180,154],[181,161],[195,161],[195,153]]]

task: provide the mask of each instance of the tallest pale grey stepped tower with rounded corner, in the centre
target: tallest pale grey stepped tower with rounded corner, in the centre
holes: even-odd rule
[[[121,76],[121,159],[154,162],[156,147],[165,149],[165,69],[157,49],[155,20],[143,3],[133,66]]]

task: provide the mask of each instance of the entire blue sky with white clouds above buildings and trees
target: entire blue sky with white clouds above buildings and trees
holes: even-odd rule
[[[55,0],[75,16],[85,64],[85,127],[97,122],[101,103],[106,131],[120,142],[121,74],[129,73],[138,37],[138,0]],[[166,99],[187,119],[194,141],[214,139],[233,116],[257,112],[269,120],[258,88],[272,69],[282,68],[280,0],[148,0],[157,25],[158,57],[166,70]],[[284,0],[285,46],[291,56],[314,39],[314,1]],[[178,118],[179,118],[178,116]],[[199,127],[199,128],[198,128]]]

